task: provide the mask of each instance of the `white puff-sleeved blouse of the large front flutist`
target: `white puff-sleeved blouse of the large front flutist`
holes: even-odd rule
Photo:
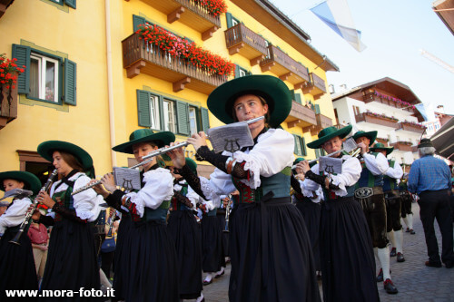
[[[249,170],[250,180],[241,180],[252,189],[261,186],[261,176],[271,177],[285,167],[291,167],[294,161],[295,142],[293,136],[281,129],[270,129],[259,135],[257,143],[251,150],[231,152],[223,151],[222,155],[232,156],[237,163],[245,162],[244,170]],[[221,195],[228,195],[236,190],[232,176],[216,168],[210,180],[200,177],[202,192],[208,200],[221,204]]]

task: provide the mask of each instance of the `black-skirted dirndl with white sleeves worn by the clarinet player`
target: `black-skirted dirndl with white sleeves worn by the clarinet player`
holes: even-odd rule
[[[81,180],[77,181],[79,178]],[[69,289],[76,293],[79,293],[82,287],[86,290],[91,290],[92,288],[98,290],[101,284],[92,226],[89,222],[80,221],[80,219],[77,220],[79,218],[77,209],[81,206],[81,203],[85,202],[86,206],[90,201],[94,202],[94,200],[82,199],[93,199],[96,195],[94,191],[84,191],[83,193],[74,195],[74,197],[71,196],[73,189],[77,190],[83,187],[89,179],[82,173],[76,173],[69,180],[73,181],[69,186],[66,183],[62,184],[62,180],[60,180],[55,182],[51,189],[52,199],[64,209],[73,213],[75,211],[75,213],[74,219],[72,219],[55,211],[55,223],[49,239],[47,261],[45,263],[43,282],[41,283],[40,289]],[[61,188],[58,190],[60,186]],[[94,196],[90,197],[90,194],[94,194]],[[76,198],[78,200],[74,200]],[[77,202],[79,204],[76,204]],[[90,211],[85,211],[80,215],[84,219],[89,219],[95,215],[90,213]],[[48,300],[49,298],[43,297],[42,299]],[[80,297],[79,295],[58,298],[59,301],[94,301],[97,299],[97,297]]]

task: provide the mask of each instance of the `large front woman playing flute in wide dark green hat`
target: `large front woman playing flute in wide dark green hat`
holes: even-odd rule
[[[289,89],[279,78],[250,75],[217,87],[207,104],[225,123],[267,117],[249,125],[255,144],[234,153],[210,151],[203,132],[188,139],[199,158],[217,168],[210,180],[192,173],[182,149],[168,152],[203,199],[240,191],[230,226],[230,300],[319,301],[311,242],[301,213],[291,204],[294,141],[279,129],[291,111]]]

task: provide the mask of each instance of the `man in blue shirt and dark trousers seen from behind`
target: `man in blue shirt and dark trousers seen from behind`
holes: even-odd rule
[[[448,165],[433,154],[435,148],[429,139],[422,139],[418,145],[419,160],[411,165],[409,191],[419,195],[419,217],[424,228],[429,260],[426,266],[441,268],[441,261],[446,268],[454,266],[452,251],[452,220],[449,209],[449,191],[452,186]],[[442,238],[441,261],[439,244],[435,237],[434,219],[439,223]]]

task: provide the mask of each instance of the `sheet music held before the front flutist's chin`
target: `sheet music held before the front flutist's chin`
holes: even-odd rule
[[[235,122],[210,128],[207,131],[213,151],[238,151],[242,147],[253,146],[253,139],[247,122]]]

